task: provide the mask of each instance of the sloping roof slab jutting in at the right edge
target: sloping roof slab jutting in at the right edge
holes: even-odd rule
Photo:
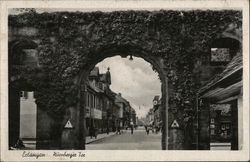
[[[237,53],[237,55],[233,57],[231,62],[228,63],[225,70],[222,73],[215,75],[210,81],[208,81],[207,84],[205,84],[202,88],[200,88],[199,93],[203,93],[213,88],[217,83],[228,78],[232,74],[242,70],[242,68],[243,68],[242,55],[241,53]]]

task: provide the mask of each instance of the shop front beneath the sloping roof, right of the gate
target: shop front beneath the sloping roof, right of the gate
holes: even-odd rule
[[[237,148],[237,107],[233,102],[210,105],[210,149]]]

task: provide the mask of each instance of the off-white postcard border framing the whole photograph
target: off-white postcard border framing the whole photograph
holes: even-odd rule
[[[132,0],[132,1],[2,1],[0,2],[0,59],[1,59],[1,160],[3,161],[247,161],[249,160],[249,1],[248,0]],[[87,11],[102,10],[154,10],[154,9],[242,9],[243,10],[243,150],[241,151],[90,151],[83,150],[85,158],[55,158],[54,151],[34,150],[47,154],[46,158],[22,158],[23,151],[8,150],[8,8],[84,8]],[[108,9],[108,10],[106,10]],[[59,150],[59,152],[64,152]],[[78,150],[67,150],[78,152]]]

